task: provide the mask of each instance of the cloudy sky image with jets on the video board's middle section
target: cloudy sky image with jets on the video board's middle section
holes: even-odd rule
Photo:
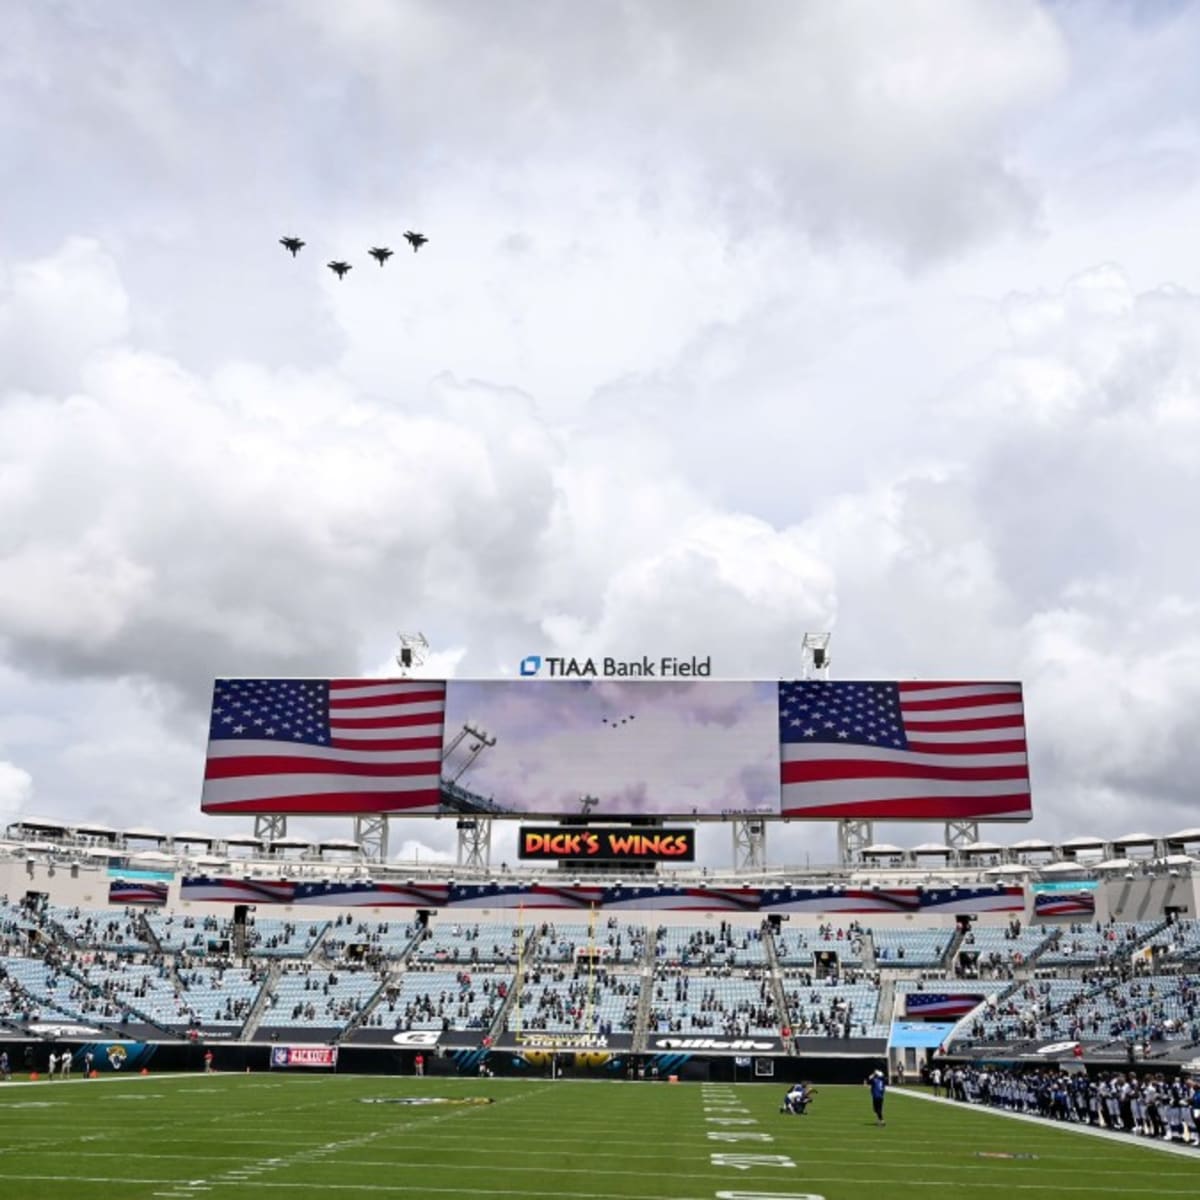
[[[455,679],[445,733],[494,739],[456,782],[502,812],[778,816],[776,713],[773,683]]]

